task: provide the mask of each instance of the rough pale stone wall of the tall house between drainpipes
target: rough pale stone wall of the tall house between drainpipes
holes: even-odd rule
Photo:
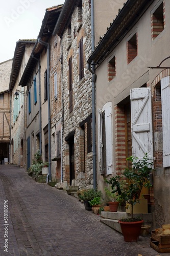
[[[82,10],[76,7],[71,16],[70,28],[65,28],[62,36],[63,46],[63,180],[69,179],[69,134],[74,134],[75,179],[80,187],[92,186],[92,153],[86,152],[86,122],[84,123],[84,140],[81,141],[80,123],[92,112],[91,109],[91,74],[87,69],[87,59],[91,53],[91,24],[89,2],[82,1]],[[83,37],[84,77],[79,81],[79,41]],[[72,91],[73,111],[69,113],[68,60],[72,57]],[[67,141],[65,139],[67,138]],[[81,148],[85,157],[80,157]],[[82,163],[83,161],[83,163]],[[82,169],[84,165],[84,169]]]

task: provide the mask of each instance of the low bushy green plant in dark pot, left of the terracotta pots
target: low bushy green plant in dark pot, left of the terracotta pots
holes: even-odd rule
[[[86,210],[91,210],[92,206],[89,204],[89,201],[93,200],[96,197],[102,198],[102,192],[94,188],[87,189],[83,191],[82,195],[79,195],[79,199],[84,202]]]

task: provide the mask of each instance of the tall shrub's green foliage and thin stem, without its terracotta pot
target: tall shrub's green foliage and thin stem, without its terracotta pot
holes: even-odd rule
[[[142,159],[131,156],[127,160],[132,163],[132,167],[125,168],[122,176],[117,175],[108,182],[112,185],[114,193],[117,191],[119,199],[123,199],[131,205],[131,220],[133,220],[133,206],[138,202],[141,189],[152,186],[150,174],[153,171],[153,162],[151,162],[147,153]]]

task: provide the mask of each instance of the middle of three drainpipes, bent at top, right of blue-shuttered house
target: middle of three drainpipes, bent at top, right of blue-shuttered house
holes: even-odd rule
[[[48,42],[42,41],[38,37],[38,42],[47,49],[47,98],[48,98],[48,174],[46,176],[46,183],[52,181],[52,161],[51,161],[51,110],[50,110],[50,44]]]

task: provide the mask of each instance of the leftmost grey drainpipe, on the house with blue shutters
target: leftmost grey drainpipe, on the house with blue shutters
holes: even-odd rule
[[[32,58],[36,59],[38,61],[38,80],[39,80],[39,153],[40,155],[42,154],[42,125],[41,125],[41,120],[42,120],[42,115],[41,115],[41,76],[40,76],[40,60],[34,57],[32,54]]]

